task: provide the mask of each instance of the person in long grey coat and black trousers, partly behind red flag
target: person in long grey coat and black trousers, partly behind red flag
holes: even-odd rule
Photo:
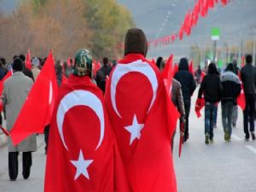
[[[14,74],[3,83],[3,105],[6,108],[6,126],[11,131],[17,119],[26,96],[32,88],[32,79],[22,73],[23,63],[17,58],[13,63]],[[18,155],[22,152],[22,175],[25,179],[30,176],[32,166],[32,151],[37,150],[36,136],[27,137],[26,140],[14,146],[10,138],[8,141],[9,149],[9,178],[15,181],[18,176]]]

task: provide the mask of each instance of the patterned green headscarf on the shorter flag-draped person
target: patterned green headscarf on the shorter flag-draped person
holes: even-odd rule
[[[89,50],[79,49],[75,55],[75,65],[73,67],[73,74],[77,76],[91,75],[92,71],[92,56]]]

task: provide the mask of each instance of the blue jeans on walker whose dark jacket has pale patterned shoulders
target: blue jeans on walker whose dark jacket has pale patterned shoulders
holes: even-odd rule
[[[233,114],[234,104],[233,102],[222,102],[221,109],[222,109],[222,125],[224,131],[228,131],[230,136],[232,134],[232,114]]]

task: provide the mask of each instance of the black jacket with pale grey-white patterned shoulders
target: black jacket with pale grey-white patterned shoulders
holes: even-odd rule
[[[220,77],[223,90],[221,93],[221,102],[234,102],[241,93],[241,82],[235,73],[227,71]]]

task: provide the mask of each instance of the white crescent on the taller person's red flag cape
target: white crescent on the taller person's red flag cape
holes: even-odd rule
[[[118,64],[112,74],[112,82],[110,85],[110,96],[111,96],[111,102],[113,105],[113,110],[119,118],[121,118],[121,115],[117,109],[116,101],[115,101],[115,95],[116,95],[116,86],[119,83],[119,80],[127,73],[131,72],[137,72],[142,73],[144,76],[147,77],[148,81],[150,82],[153,90],[153,97],[150,103],[150,106],[148,108],[149,110],[152,108],[155,97],[156,97],[156,90],[158,88],[158,80],[156,77],[156,74],[154,73],[154,69],[148,64],[148,62],[143,62],[142,60],[133,61],[129,64]]]

